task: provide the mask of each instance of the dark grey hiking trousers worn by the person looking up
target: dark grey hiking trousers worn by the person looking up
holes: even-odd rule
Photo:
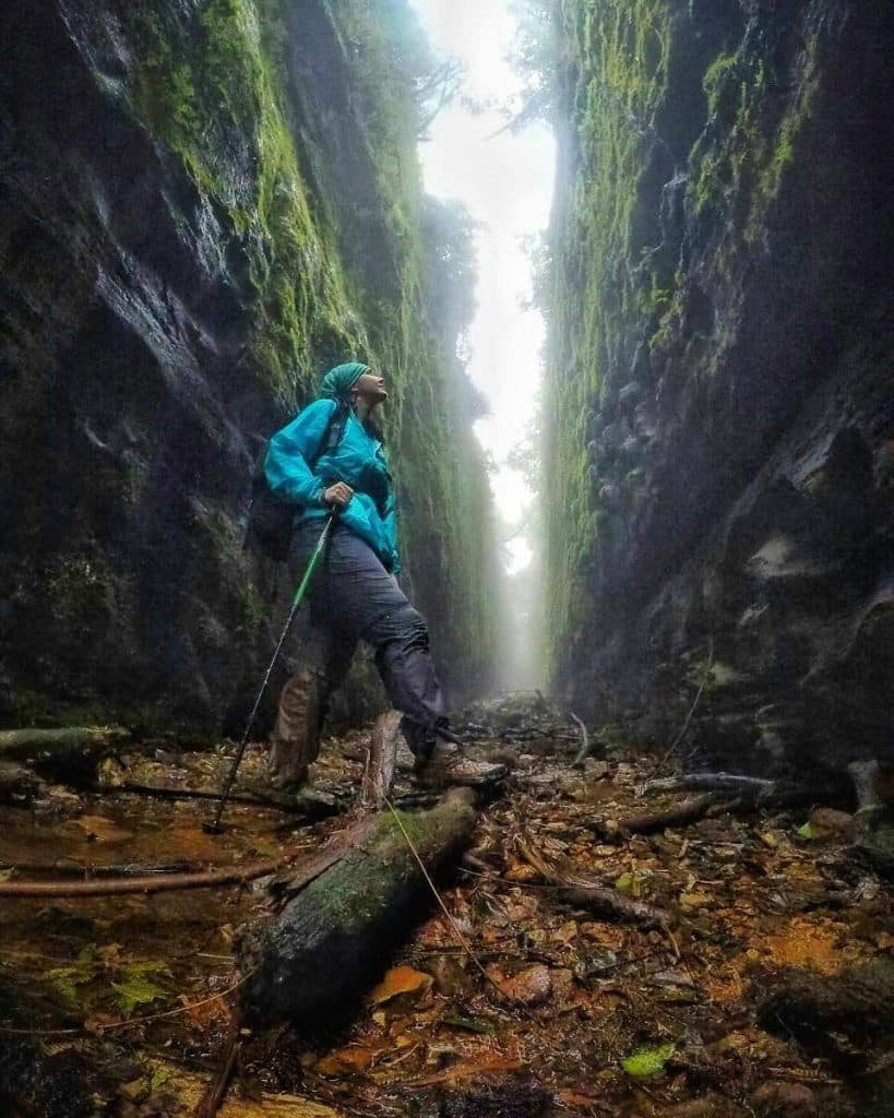
[[[289,567],[296,579],[304,572],[322,530],[321,519],[299,525],[295,532]],[[428,626],[372,548],[337,522],[308,600],[316,638],[308,650],[315,663],[307,666],[318,678],[321,724],[329,695],[348,674],[358,642],[364,641],[374,650],[375,666],[392,705],[403,714],[401,731],[407,743],[413,752],[425,751],[432,729],[445,714]]]

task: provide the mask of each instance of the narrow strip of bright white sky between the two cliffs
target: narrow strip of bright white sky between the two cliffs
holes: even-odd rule
[[[554,144],[543,124],[522,132],[500,132],[506,123],[500,106],[519,91],[506,56],[515,22],[507,0],[411,0],[434,46],[466,68],[463,93],[479,104],[473,112],[460,100],[445,108],[419,146],[426,190],[465,202],[476,221],[477,310],[469,330],[468,373],[491,405],[475,430],[496,463],[492,486],[501,515],[519,523],[532,494],[522,476],[505,465],[531,421],[540,389],[543,319],[525,310],[531,296],[531,265],[523,238],[541,233],[549,220]],[[494,133],[500,133],[494,135]],[[508,544],[510,570],[531,558],[523,539]]]

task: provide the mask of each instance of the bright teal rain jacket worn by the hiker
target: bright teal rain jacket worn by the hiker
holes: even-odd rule
[[[381,559],[386,570],[400,570],[397,540],[394,486],[381,442],[349,411],[339,445],[318,453],[335,414],[332,399],[314,400],[288,426],[270,439],[264,473],[273,492],[296,506],[295,525],[329,513],[323,492],[333,482],[346,482],[354,491],[340,514],[340,522],[359,536]],[[337,421],[337,420],[336,420]]]

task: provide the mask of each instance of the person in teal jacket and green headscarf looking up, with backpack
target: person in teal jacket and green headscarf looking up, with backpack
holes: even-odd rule
[[[358,641],[375,650],[375,666],[421,771],[447,731],[428,628],[396,575],[400,570],[394,489],[372,414],[388,399],[369,366],[339,364],[320,399],[273,436],[264,471],[273,493],[295,505],[289,566],[297,575],[339,511],[310,588],[312,663],[283,688],[270,770],[280,785],[307,779],[320,751],[329,697],[344,680]]]

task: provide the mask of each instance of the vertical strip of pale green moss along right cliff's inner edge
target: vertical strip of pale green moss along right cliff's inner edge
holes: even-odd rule
[[[627,322],[656,330],[674,295],[673,273],[644,255],[637,202],[647,151],[668,82],[675,12],[667,0],[563,6],[563,35],[577,74],[573,97],[580,168],[568,188],[564,230],[552,246],[551,349],[561,366],[548,375],[551,417],[544,468],[564,502],[546,509],[548,661],[553,674],[573,655],[578,619],[589,614],[591,565],[610,518],[589,481],[586,416],[599,397],[611,356],[622,351]],[[627,262],[639,259],[637,267]]]

